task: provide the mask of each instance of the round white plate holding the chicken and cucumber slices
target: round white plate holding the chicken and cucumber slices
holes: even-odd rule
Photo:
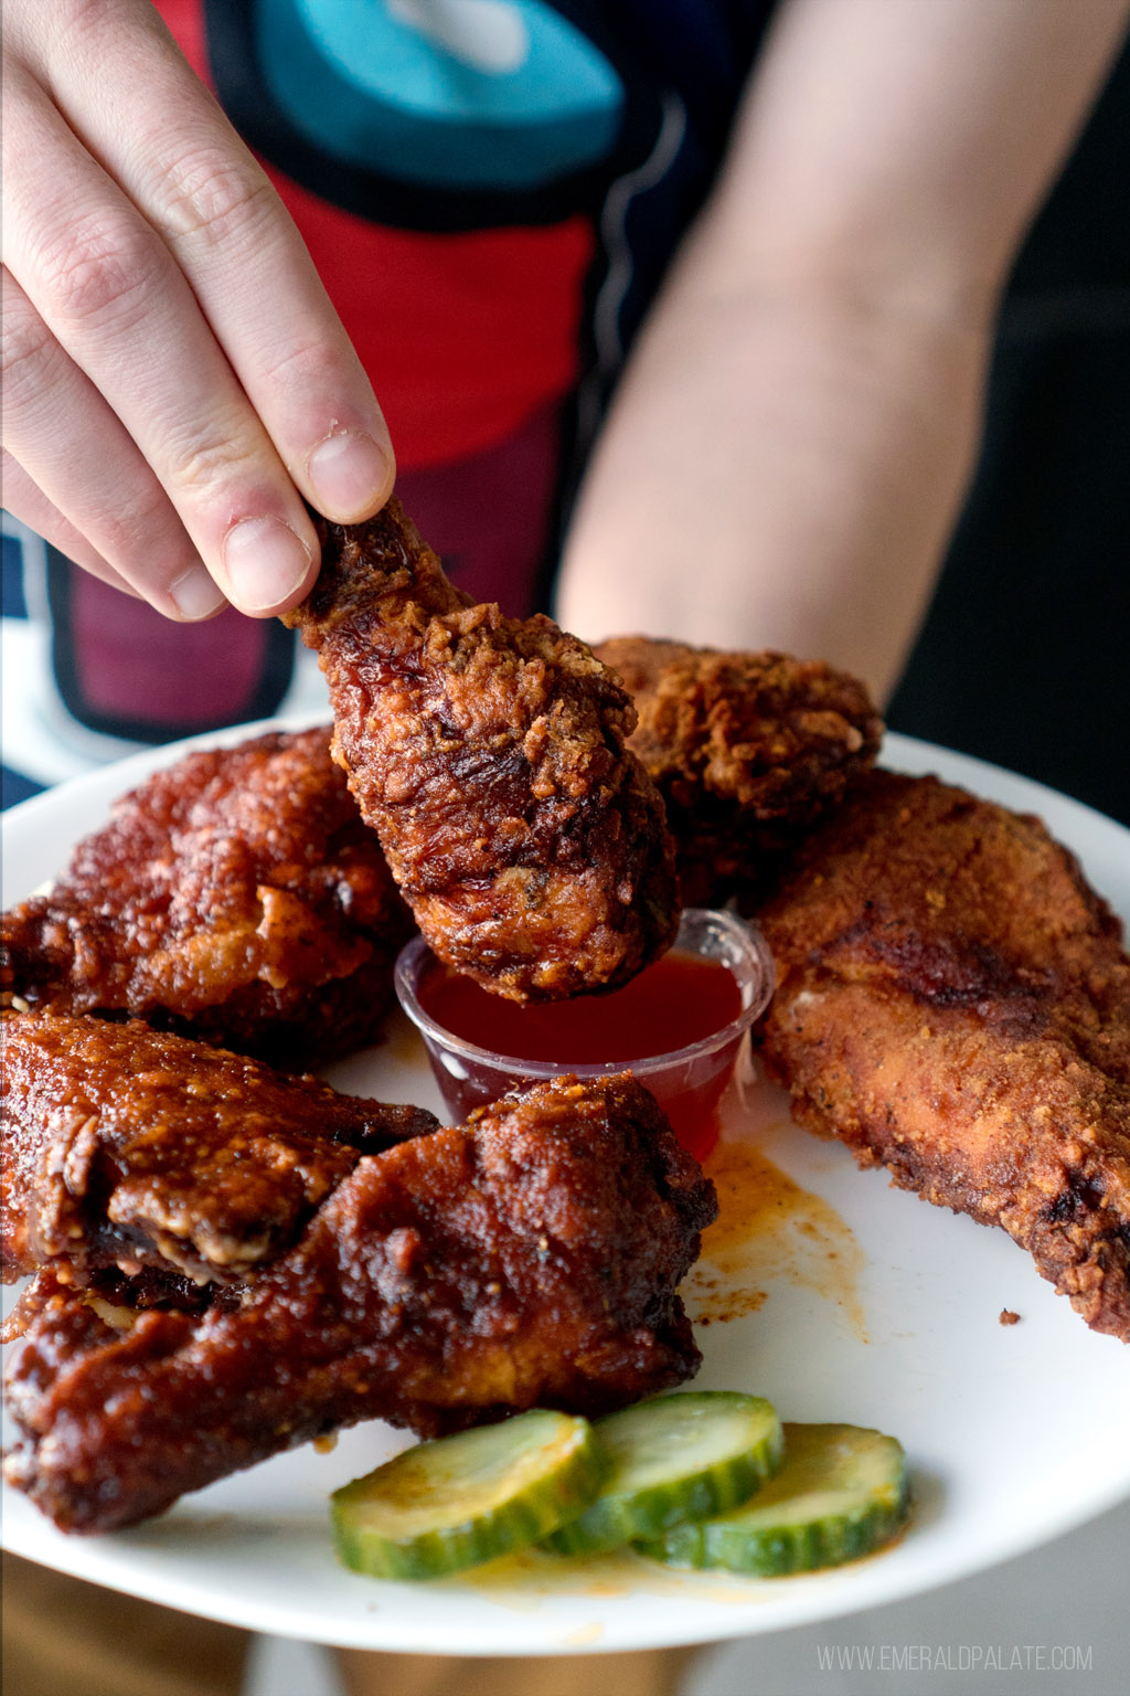
[[[252,728],[205,743],[239,741]],[[25,895],[98,826],[108,802],[183,751],[166,748],[14,809],[5,902]],[[1130,918],[1130,833],[1020,777],[889,736],[884,763],[939,772],[1042,814],[1091,882]],[[407,1026],[335,1067],[347,1089],[437,1107]],[[252,1630],[312,1642],[435,1654],[530,1655],[744,1637],[854,1613],[978,1572],[1130,1496],[1130,1350],[1098,1336],[1003,1231],[928,1208],[861,1172],[839,1146],[788,1123],[784,1097],[754,1087],[728,1106],[727,1136],[757,1145],[808,1192],[784,1225],[706,1265],[693,1313],[747,1284],[756,1311],[700,1326],[703,1387],[769,1396],[783,1418],[879,1425],[906,1445],[917,1511],[905,1538],[852,1567],[773,1582],[666,1574],[640,1562],[554,1565],[530,1557],[478,1577],[385,1584],[344,1572],[327,1496],[396,1448],[366,1425],[337,1448],[281,1455],[112,1537],[63,1537],[17,1492],[3,1542],[49,1567]],[[796,1201],[796,1197],[795,1197]],[[739,1303],[740,1304],[740,1303]],[[734,1301],[730,1301],[734,1306]],[[1020,1323],[1000,1325],[1001,1309]]]

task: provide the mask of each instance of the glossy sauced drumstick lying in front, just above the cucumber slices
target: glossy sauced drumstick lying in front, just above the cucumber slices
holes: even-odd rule
[[[357,1420],[623,1406],[700,1365],[676,1286],[715,1213],[629,1074],[537,1085],[359,1158],[237,1306],[100,1313],[44,1275],[5,1477],[107,1531]]]

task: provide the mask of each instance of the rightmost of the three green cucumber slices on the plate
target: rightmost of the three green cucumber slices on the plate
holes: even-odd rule
[[[906,1457],[893,1437],[786,1425],[781,1469],[751,1503],[637,1547],[666,1565],[781,1577],[869,1555],[908,1511]]]

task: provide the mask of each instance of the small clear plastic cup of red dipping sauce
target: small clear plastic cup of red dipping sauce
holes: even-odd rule
[[[422,938],[396,965],[400,1002],[454,1119],[535,1079],[630,1070],[700,1160],[718,1140],[722,1092],[771,990],[759,933],[698,909],[683,914],[671,953],[608,996],[523,1007],[442,965]]]

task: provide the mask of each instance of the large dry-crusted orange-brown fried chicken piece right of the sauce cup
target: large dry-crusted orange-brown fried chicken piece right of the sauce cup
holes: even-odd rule
[[[1035,817],[872,772],[759,914],[801,1124],[1001,1225],[1130,1340],[1130,960]]]

